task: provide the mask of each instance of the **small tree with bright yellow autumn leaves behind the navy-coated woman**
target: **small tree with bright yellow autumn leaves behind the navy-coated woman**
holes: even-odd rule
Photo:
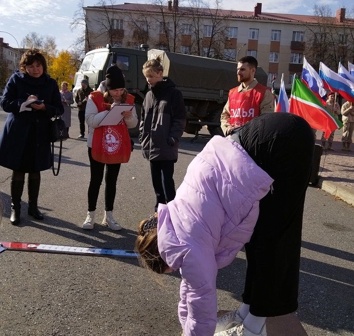
[[[48,73],[60,86],[62,82],[68,82],[70,90],[74,83],[74,75],[77,71],[73,55],[62,50],[57,57],[53,59],[53,63],[48,67]]]

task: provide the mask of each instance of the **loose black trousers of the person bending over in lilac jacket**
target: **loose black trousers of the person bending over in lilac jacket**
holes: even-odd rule
[[[270,113],[238,129],[242,147],[274,180],[245,245],[243,302],[250,313],[269,317],[298,308],[300,248],[305,193],[314,139],[311,127],[291,113]],[[231,136],[232,137],[232,136]]]

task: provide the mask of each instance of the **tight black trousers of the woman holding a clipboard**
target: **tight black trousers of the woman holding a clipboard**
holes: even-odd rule
[[[90,185],[87,192],[88,196],[88,211],[95,211],[97,205],[97,199],[99,197],[100,187],[103,181],[103,173],[106,166],[105,174],[105,210],[112,211],[115,199],[115,190],[117,184],[117,177],[119,170],[121,169],[121,164],[104,164],[92,159],[91,148],[88,148],[88,155],[90,160],[90,172],[91,179]]]

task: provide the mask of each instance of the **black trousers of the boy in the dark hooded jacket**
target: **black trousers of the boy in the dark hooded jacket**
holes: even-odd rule
[[[173,181],[174,161],[150,161],[152,186],[156,194],[155,211],[159,203],[167,204],[176,195]]]

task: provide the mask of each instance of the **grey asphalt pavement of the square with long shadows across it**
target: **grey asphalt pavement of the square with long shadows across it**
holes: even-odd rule
[[[0,128],[6,116],[0,111]],[[340,132],[336,132],[335,151],[327,151],[321,158],[322,189],[312,186],[307,191],[299,310],[268,319],[269,336],[354,334],[354,208],[350,205],[354,160],[353,152],[340,150]],[[140,145],[134,146],[129,163],[122,165],[117,183],[114,214],[123,230],[113,232],[100,225],[104,212],[101,190],[97,224],[92,231],[84,231],[81,225],[86,218],[90,172],[86,141],[75,139],[75,109],[69,133],[72,139],[63,144],[60,174],[42,173],[39,207],[44,221],[27,215],[25,188],[22,222],[17,227],[9,224],[11,171],[0,167],[5,206],[0,241],[131,250],[137,223],[153,212],[154,205],[149,164],[142,158]],[[202,133],[207,132],[203,129]],[[192,137],[184,134],[181,140],[174,172],[176,187],[189,162],[208,141],[201,137],[192,144]],[[331,193],[326,190],[329,186]],[[245,270],[241,251],[231,265],[219,271],[220,310],[240,305]],[[0,336],[180,336],[179,284],[177,272],[155,276],[140,268],[134,258],[5,251],[0,254]]]

